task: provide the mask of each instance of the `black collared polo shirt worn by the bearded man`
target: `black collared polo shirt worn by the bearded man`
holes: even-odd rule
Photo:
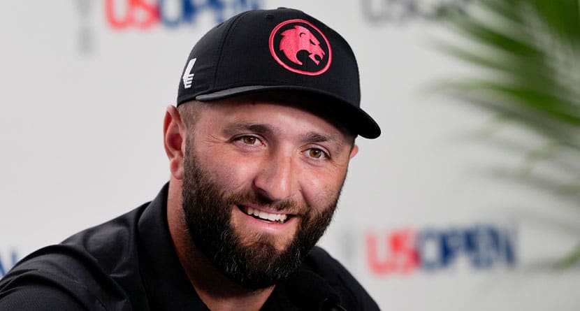
[[[0,280],[0,310],[209,310],[191,286],[157,197],[22,259]],[[338,261],[314,247],[303,269],[320,275],[346,310],[379,310]],[[299,310],[280,282],[262,310]],[[242,306],[240,306],[241,308]]]

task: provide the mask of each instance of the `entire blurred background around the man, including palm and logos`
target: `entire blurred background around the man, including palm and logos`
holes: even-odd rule
[[[250,8],[351,44],[362,106],[321,240],[384,310],[579,310],[577,0],[0,3],[0,277],[150,201],[189,50]]]

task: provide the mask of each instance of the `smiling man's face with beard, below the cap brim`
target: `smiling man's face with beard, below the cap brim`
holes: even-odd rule
[[[352,138],[305,110],[206,105],[184,158],[183,210],[196,248],[245,287],[287,277],[331,222],[351,150]]]

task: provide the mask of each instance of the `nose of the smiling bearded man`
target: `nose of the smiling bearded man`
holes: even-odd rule
[[[291,156],[277,154],[264,161],[254,178],[254,187],[272,201],[292,198],[298,191],[298,170]]]

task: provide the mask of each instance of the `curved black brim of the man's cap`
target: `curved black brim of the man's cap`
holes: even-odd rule
[[[219,99],[226,99],[235,95],[253,94],[268,91],[300,91],[326,96],[338,103],[338,106],[332,108],[333,110],[337,109],[337,112],[340,112],[340,115],[343,115],[345,121],[347,120],[348,124],[344,124],[347,128],[353,130],[356,134],[363,136],[364,138],[372,139],[381,135],[379,124],[377,124],[377,122],[375,122],[375,120],[373,120],[370,115],[365,113],[364,110],[352,106],[345,100],[333,96],[333,94],[321,92],[319,89],[289,85],[249,85],[243,87],[232,87],[230,89],[222,89],[220,91],[209,94],[197,95],[195,99],[196,101],[217,101]]]

